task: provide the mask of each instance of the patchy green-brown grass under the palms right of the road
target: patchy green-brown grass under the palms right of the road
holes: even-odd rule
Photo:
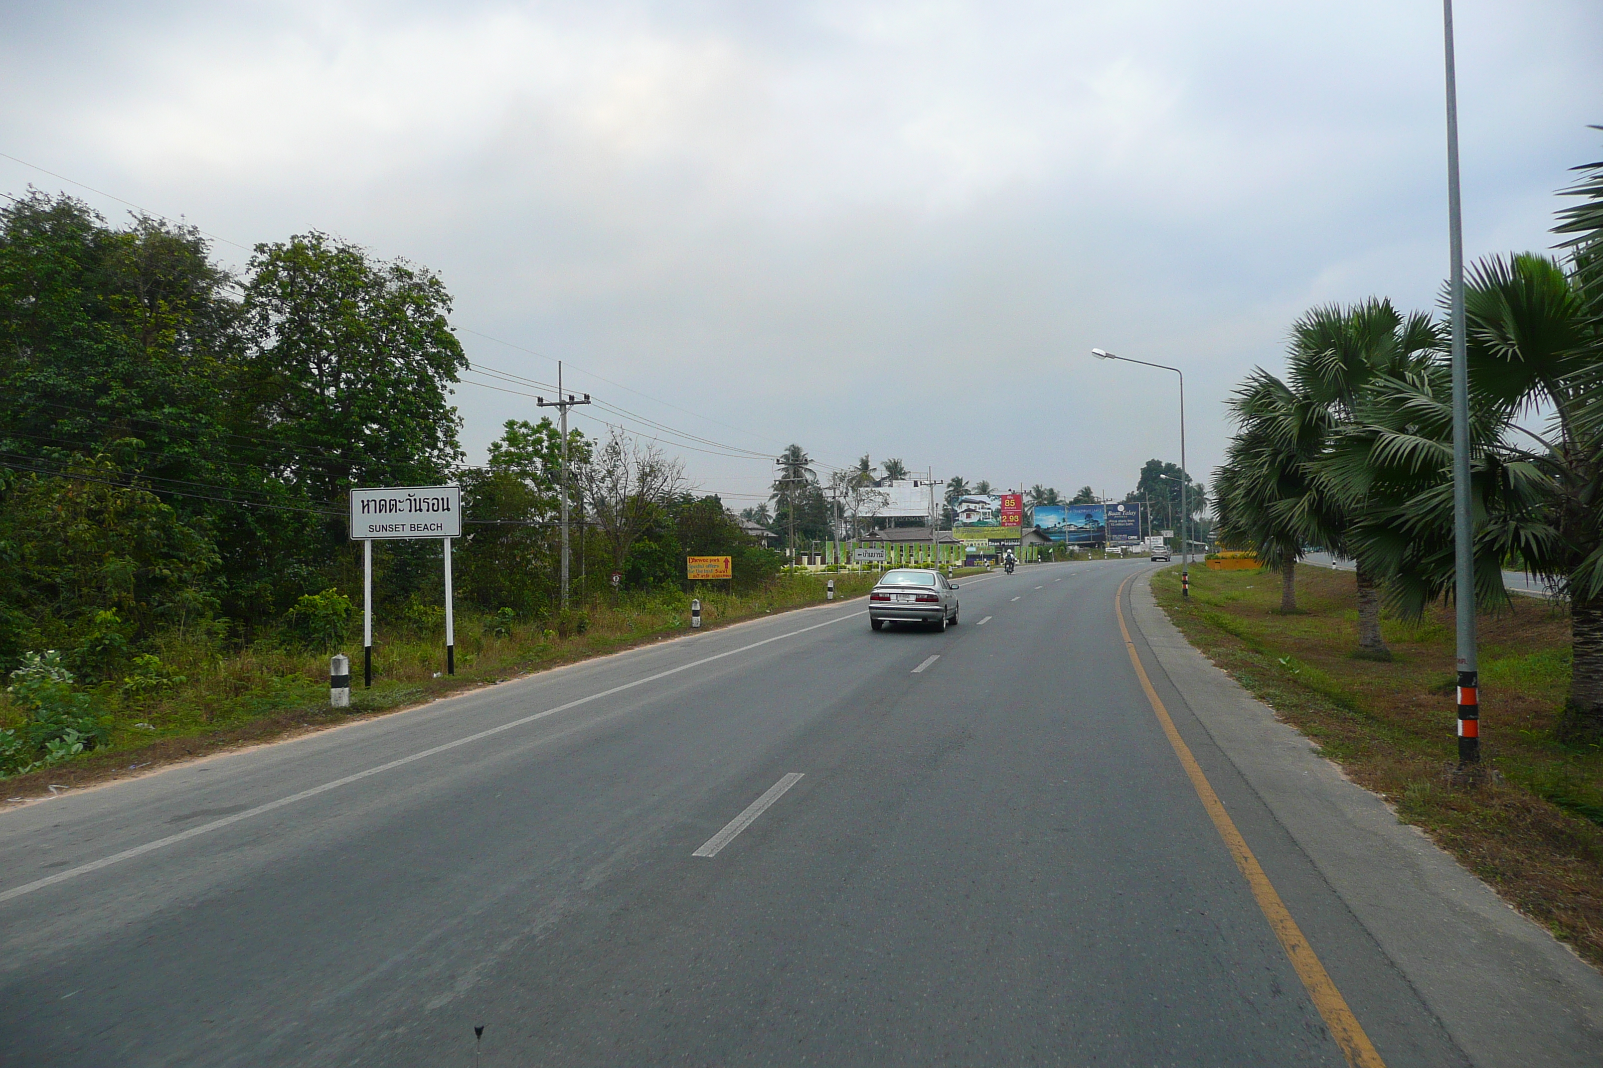
[[[1515,908],[1603,966],[1603,746],[1563,745],[1553,725],[1569,685],[1569,618],[1515,597],[1483,613],[1483,785],[1457,781],[1451,610],[1383,620],[1395,660],[1358,660],[1351,572],[1297,568],[1297,615],[1279,575],[1178,570],[1153,576],[1157,602],[1213,663],[1308,735],[1356,783],[1459,858]]]

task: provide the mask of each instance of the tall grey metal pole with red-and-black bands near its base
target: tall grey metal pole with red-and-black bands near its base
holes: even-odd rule
[[[1448,245],[1452,258],[1452,562],[1457,602],[1459,764],[1481,759],[1480,666],[1475,661],[1475,525],[1470,517],[1470,367],[1464,343],[1464,215],[1459,200],[1459,85],[1452,0],[1441,0],[1448,59]]]

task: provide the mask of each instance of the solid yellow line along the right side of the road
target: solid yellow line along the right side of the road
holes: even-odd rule
[[[1133,578],[1133,576],[1132,576]],[[1303,937],[1302,929],[1297,921],[1292,919],[1290,909],[1286,908],[1286,901],[1274,890],[1274,884],[1263,873],[1263,866],[1258,865],[1258,858],[1252,855],[1247,849],[1247,839],[1241,836],[1236,829],[1236,821],[1230,818],[1225,812],[1225,804],[1213,793],[1212,783],[1207,781],[1207,775],[1202,773],[1202,765],[1191,754],[1191,748],[1186,745],[1185,738],[1175,729],[1175,721],[1169,716],[1169,709],[1164,708],[1164,701],[1157,697],[1157,690],[1153,689],[1153,681],[1146,676],[1146,668],[1141,666],[1141,658],[1135,652],[1135,642],[1130,640],[1130,628],[1124,623],[1124,588],[1130,584],[1130,580],[1119,583],[1119,592],[1112,596],[1112,607],[1119,616],[1119,632],[1124,634],[1125,652],[1130,653],[1130,663],[1135,666],[1137,677],[1141,679],[1141,689],[1146,690],[1146,700],[1153,706],[1153,713],[1157,714],[1157,722],[1164,727],[1164,733],[1169,737],[1169,745],[1173,746],[1175,756],[1180,757],[1180,765],[1186,769],[1186,775],[1191,778],[1193,789],[1197,791],[1197,799],[1207,810],[1209,818],[1213,820],[1218,836],[1225,839],[1225,849],[1236,860],[1236,866],[1241,868],[1241,874],[1247,877],[1247,885],[1252,887],[1252,897],[1257,898],[1258,908],[1263,909],[1263,919],[1270,921],[1270,927],[1274,930],[1274,937],[1281,940],[1281,948],[1286,950],[1286,956],[1292,962],[1292,969],[1297,970],[1297,977],[1303,982],[1308,990],[1308,998],[1313,1001],[1319,1015],[1324,1017],[1324,1025],[1330,1028],[1330,1038],[1335,1044],[1342,1047],[1342,1055],[1347,1057],[1348,1065],[1356,1065],[1358,1068],[1385,1068],[1385,1062],[1380,1060],[1380,1054],[1375,1052],[1374,1044],[1369,1036],[1364,1034],[1364,1028],[1358,1023],[1358,1017],[1347,1006],[1347,999],[1342,998],[1342,991],[1335,988],[1330,980],[1330,974],[1324,970],[1319,964],[1319,958],[1314,954],[1313,946]]]

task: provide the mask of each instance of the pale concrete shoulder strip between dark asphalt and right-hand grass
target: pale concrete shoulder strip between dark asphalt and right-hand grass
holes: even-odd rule
[[[1473,1063],[1603,1063],[1603,975],[1193,648],[1149,575],[1130,604],[1191,714]]]

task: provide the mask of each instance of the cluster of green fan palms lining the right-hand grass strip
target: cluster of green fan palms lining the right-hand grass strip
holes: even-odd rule
[[[1603,743],[1603,162],[1576,171],[1553,227],[1560,255],[1470,264],[1465,315],[1476,599],[1515,612],[1505,568],[1565,599],[1566,690],[1542,695],[1557,701],[1555,737],[1590,745]],[[1231,399],[1238,432],[1215,477],[1220,544],[1279,572],[1287,618],[1306,608],[1306,546],[1356,562],[1351,652],[1374,661],[1393,655],[1382,607],[1420,623],[1452,596],[1439,311],[1403,312],[1385,298],[1308,311],[1292,325],[1284,376],[1258,368]],[[1502,729],[1496,714],[1483,724]]]

